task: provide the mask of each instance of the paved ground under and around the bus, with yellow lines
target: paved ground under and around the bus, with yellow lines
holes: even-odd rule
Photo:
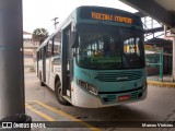
[[[62,106],[57,103],[54,92],[48,87],[40,87],[39,81],[34,73],[25,74],[25,96],[26,104],[33,109],[42,110],[42,112],[48,115],[48,117],[54,118],[55,114],[52,110],[46,109],[49,106],[52,109],[66,112],[66,116],[57,114],[58,117],[55,120],[81,120],[81,121],[171,121],[175,120],[175,88],[165,87],[148,87],[148,97],[145,100],[119,105],[115,107],[107,107],[101,109],[85,109],[74,106]],[[44,107],[37,102],[40,102]],[[27,106],[26,105],[26,106]],[[43,117],[37,115],[34,110],[26,108],[26,112],[33,117],[35,121],[47,121]],[[36,115],[35,115],[36,114]],[[67,116],[68,115],[68,116]],[[69,117],[72,118],[69,118]],[[67,119],[68,117],[68,119]],[[103,124],[103,123],[102,123]],[[161,128],[100,128],[102,130],[116,130],[116,131],[166,131],[166,129]],[[56,130],[56,129],[55,129]],[[81,129],[74,129],[81,130]],[[85,129],[83,129],[85,130]],[[95,129],[98,130],[98,129]],[[173,131],[175,129],[170,129]]]

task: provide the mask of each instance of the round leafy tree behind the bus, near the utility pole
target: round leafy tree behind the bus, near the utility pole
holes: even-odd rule
[[[45,28],[36,28],[32,34],[34,41],[38,41],[39,45],[48,37],[48,32]]]

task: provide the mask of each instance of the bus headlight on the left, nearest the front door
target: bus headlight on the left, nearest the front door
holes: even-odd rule
[[[81,86],[86,88],[90,93],[97,95],[97,90],[95,86],[93,86],[92,84],[89,84],[88,82],[84,82],[80,79],[77,80],[77,83]]]

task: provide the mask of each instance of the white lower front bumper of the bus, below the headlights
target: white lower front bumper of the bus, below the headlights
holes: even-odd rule
[[[104,94],[104,95],[94,95],[89,93],[88,91],[84,91],[83,88],[79,87],[78,85],[74,85],[73,92],[72,92],[72,105],[78,107],[84,107],[84,108],[102,108],[102,107],[109,107],[109,106],[116,106],[121,104],[128,104],[133,102],[143,100],[147,97],[147,88],[144,91],[136,91],[138,94],[142,93],[142,95],[138,98],[132,98],[124,102],[117,102],[117,98],[113,99],[113,102],[105,102],[103,98],[104,96],[109,96],[110,94]],[[132,92],[133,93],[133,92]],[[113,94],[113,95],[120,95],[125,96],[131,93],[125,93],[125,94]],[[135,94],[135,93],[133,93]]]

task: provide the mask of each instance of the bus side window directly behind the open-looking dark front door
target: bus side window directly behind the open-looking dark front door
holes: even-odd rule
[[[61,53],[61,32],[58,32],[54,37],[54,56]]]

